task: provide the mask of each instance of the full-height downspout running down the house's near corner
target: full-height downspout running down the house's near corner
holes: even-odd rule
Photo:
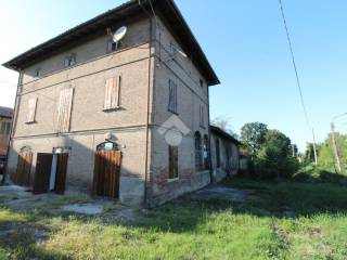
[[[146,128],[145,128],[145,161],[144,161],[144,193],[143,193],[143,207],[147,208],[147,174],[149,174],[149,140],[150,140],[150,106],[151,106],[151,70],[152,70],[152,34],[153,34],[153,22],[152,15],[144,9],[139,0],[139,5],[149,15],[150,21],[150,46],[149,46],[149,88],[147,88],[147,112],[146,112]]]

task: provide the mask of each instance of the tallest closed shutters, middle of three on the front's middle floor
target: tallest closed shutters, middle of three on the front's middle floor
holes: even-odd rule
[[[57,107],[57,132],[68,132],[73,106],[74,89],[61,91]]]

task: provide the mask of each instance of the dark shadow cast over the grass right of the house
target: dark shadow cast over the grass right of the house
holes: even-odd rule
[[[346,214],[347,186],[342,183],[344,182],[340,180],[336,183],[307,183],[235,178],[184,195],[154,209],[134,210],[114,206],[97,216],[46,211],[46,218],[57,216],[68,221],[70,217],[74,217],[81,223],[97,220],[103,225],[185,233],[196,231],[200,225],[222,212],[269,219],[296,219],[325,213]],[[125,218],[119,218],[119,212],[125,212]],[[0,232],[2,231],[3,223],[0,223]],[[17,243],[21,243],[21,239]],[[4,243],[1,238],[0,246],[9,245],[11,243]]]

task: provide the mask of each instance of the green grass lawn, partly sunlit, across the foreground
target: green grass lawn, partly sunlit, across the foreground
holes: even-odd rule
[[[347,259],[345,185],[247,179],[220,185],[254,192],[244,203],[183,196],[133,221],[107,209],[99,217],[53,216],[2,205],[0,259]]]

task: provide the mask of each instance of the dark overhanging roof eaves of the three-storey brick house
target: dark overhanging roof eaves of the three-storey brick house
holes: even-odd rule
[[[83,37],[105,31],[105,28],[117,22],[120,23],[129,17],[144,15],[144,10],[152,14],[150,3],[151,0],[130,0],[24,52],[4,63],[3,66],[14,70],[21,70],[29,64],[33,64],[35,61],[42,60],[42,57],[47,55],[52,55],[53,53],[66,49]],[[160,16],[164,24],[170,29],[170,32],[181,44],[183,51],[189,54],[194,65],[207,79],[208,84],[218,84],[219,79],[216,73],[174,0],[152,0],[152,4],[157,15]]]

